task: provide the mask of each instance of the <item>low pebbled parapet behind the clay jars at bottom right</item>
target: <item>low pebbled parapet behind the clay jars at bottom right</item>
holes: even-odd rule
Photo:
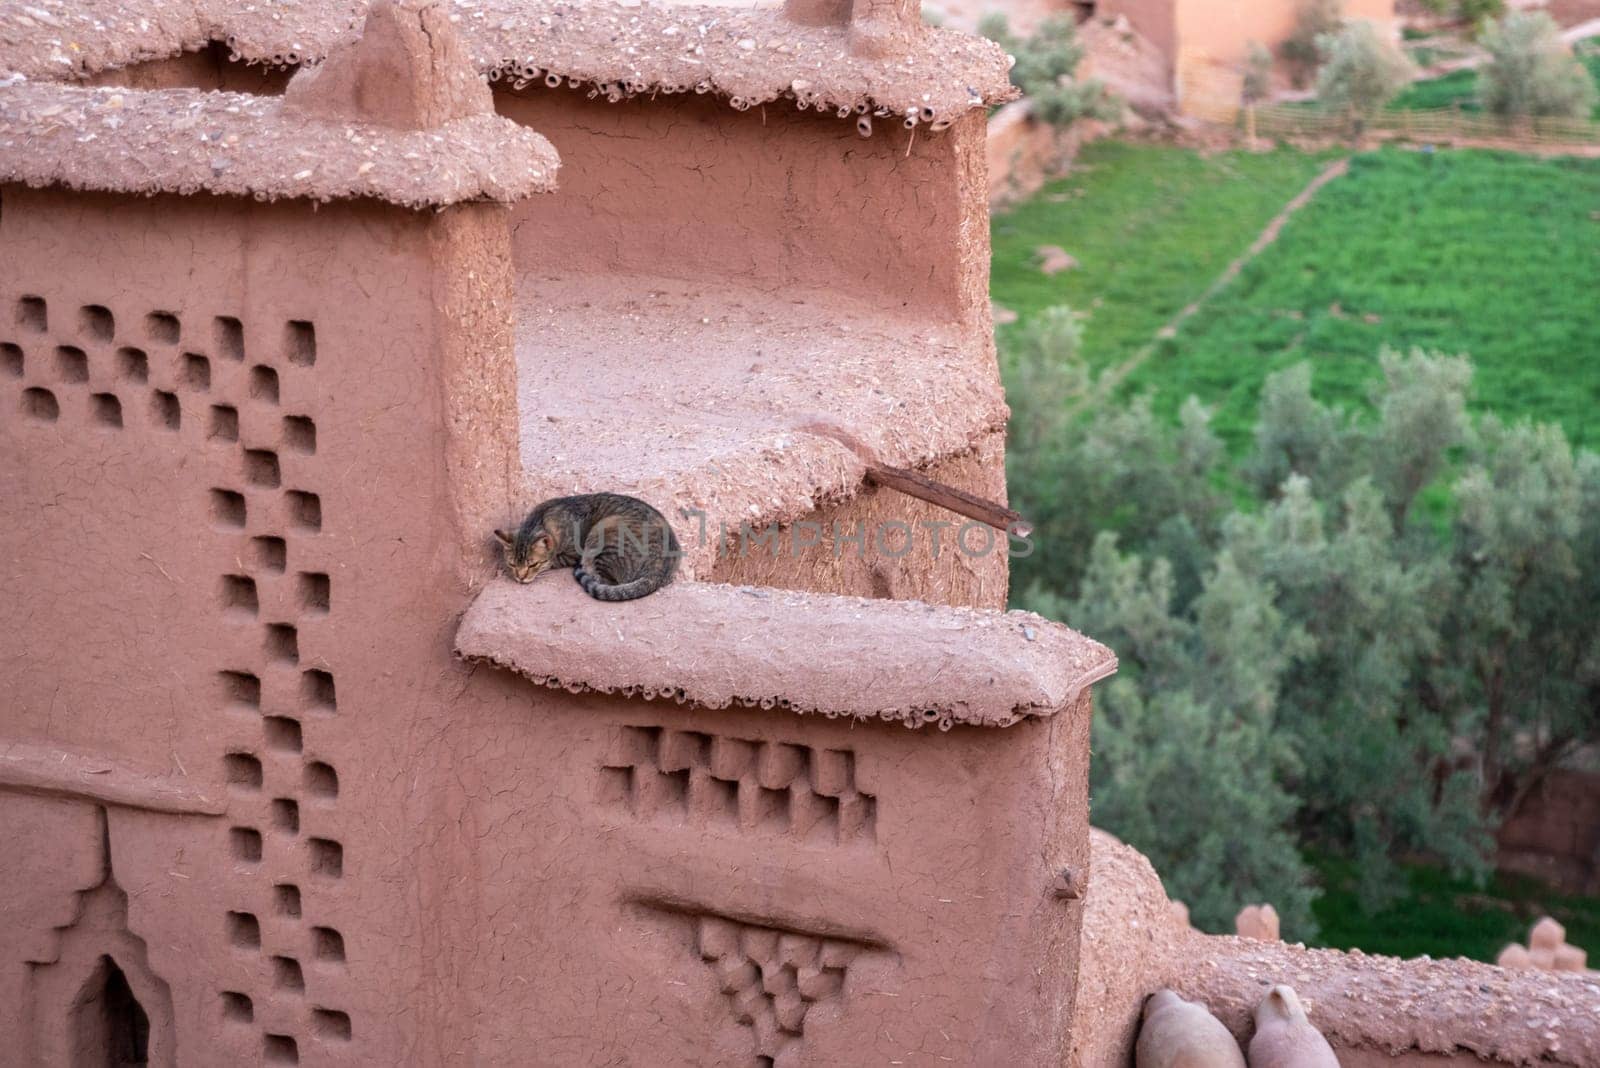
[[[1206,935],[1179,919],[1134,849],[1090,833],[1083,974],[1070,1068],[1126,1063],[1144,999],[1162,986],[1202,1001],[1248,1039],[1272,983],[1290,983],[1341,1057],[1405,1054],[1466,1063],[1600,1063],[1600,977],[1509,970],[1467,959],[1398,959]],[[1346,1063],[1368,1063],[1346,1060]]]

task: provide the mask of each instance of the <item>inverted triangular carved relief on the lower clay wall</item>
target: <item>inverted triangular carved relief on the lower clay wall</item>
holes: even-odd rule
[[[755,1065],[771,1065],[805,1036],[813,1006],[840,996],[861,946],[722,916],[699,916],[694,948],[755,1038]],[[798,1050],[794,1050],[798,1052]]]

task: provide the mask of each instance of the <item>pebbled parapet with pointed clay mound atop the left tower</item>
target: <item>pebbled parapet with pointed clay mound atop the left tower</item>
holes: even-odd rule
[[[555,149],[494,114],[437,8],[384,3],[366,22],[358,42],[301,72],[283,99],[13,75],[0,88],[0,181],[406,208],[554,189]]]

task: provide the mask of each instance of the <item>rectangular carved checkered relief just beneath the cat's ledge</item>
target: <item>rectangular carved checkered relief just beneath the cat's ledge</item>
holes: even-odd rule
[[[850,750],[624,726],[600,769],[600,799],[640,819],[813,843],[877,836],[877,798],[856,787]]]

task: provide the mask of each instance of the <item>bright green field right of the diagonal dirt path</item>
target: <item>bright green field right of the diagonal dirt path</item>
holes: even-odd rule
[[[1386,149],[1352,160],[1125,389],[1195,393],[1235,444],[1309,360],[1363,403],[1382,345],[1467,353],[1480,409],[1600,444],[1600,160]],[[1003,297],[1000,297],[1003,302]]]

